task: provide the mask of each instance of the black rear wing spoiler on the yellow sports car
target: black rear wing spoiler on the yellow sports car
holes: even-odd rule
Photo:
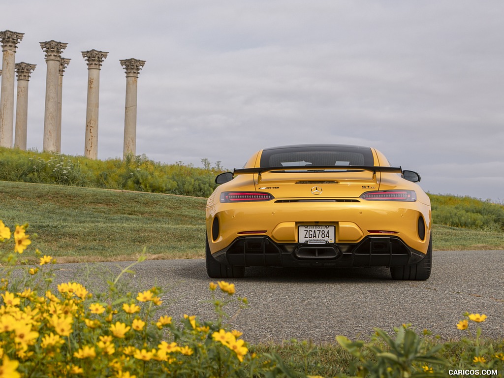
[[[258,168],[241,168],[235,169],[234,174],[258,173],[260,176],[264,172],[284,173],[288,171],[303,171],[303,173],[327,173],[328,171],[369,171],[384,173],[403,173],[401,167],[378,167],[369,165],[300,165],[289,167],[258,167]]]

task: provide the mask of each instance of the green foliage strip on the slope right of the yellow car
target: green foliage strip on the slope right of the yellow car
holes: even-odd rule
[[[488,231],[504,230],[504,206],[472,197],[429,194],[432,223]]]

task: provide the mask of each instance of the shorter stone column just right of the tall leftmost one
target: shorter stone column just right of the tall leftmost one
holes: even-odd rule
[[[16,63],[18,74],[18,97],[16,100],[16,134],[14,147],[26,150],[26,128],[28,124],[28,81],[30,74],[36,65],[30,65],[24,61]]]

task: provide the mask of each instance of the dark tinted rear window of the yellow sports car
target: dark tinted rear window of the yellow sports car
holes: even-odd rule
[[[374,165],[369,147],[358,146],[292,146],[263,151],[261,167],[328,165]]]

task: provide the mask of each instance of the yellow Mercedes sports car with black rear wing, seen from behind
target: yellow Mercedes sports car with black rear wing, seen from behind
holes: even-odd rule
[[[221,173],[206,208],[206,267],[241,278],[245,267],[390,267],[426,280],[431,212],[418,173],[374,148],[298,145],[256,152]]]

